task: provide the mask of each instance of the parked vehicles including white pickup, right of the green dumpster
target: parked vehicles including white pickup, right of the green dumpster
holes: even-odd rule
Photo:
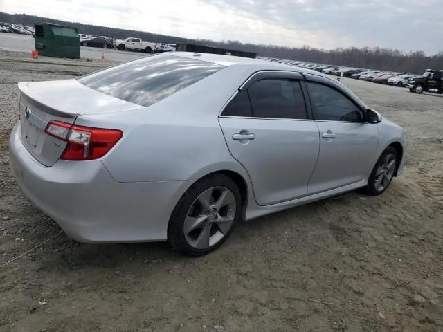
[[[162,53],[177,50],[176,44],[162,44],[145,42],[141,38],[129,37],[126,39],[115,39],[99,35],[78,34],[80,45],[102,48],[117,48],[118,50],[140,50],[145,53]]]

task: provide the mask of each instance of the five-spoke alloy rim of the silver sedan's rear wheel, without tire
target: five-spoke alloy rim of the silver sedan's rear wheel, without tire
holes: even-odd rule
[[[214,246],[233,225],[237,203],[226,187],[205,190],[190,206],[183,223],[186,242],[197,249]]]

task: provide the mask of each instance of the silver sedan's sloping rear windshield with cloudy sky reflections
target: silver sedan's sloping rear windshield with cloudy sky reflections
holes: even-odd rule
[[[187,57],[152,55],[78,78],[112,97],[150,106],[225,68]]]

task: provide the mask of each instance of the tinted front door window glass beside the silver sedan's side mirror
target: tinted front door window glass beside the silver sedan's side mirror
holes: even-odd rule
[[[361,109],[342,93],[323,84],[307,85],[316,120],[364,122]]]

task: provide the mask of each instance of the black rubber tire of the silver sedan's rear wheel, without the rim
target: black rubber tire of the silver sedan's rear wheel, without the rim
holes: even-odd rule
[[[225,187],[230,190],[235,197],[235,216],[233,218],[233,223],[230,226],[230,229],[224,237],[221,238],[217,243],[213,246],[210,246],[205,249],[197,249],[186,241],[186,237],[184,234],[183,226],[185,222],[185,218],[188,214],[188,210],[190,210],[192,204],[195,202],[197,197],[200,194],[210,189],[211,187]],[[181,199],[175,205],[174,211],[170,216],[170,221],[168,224],[168,242],[174,248],[185,255],[190,256],[201,256],[206,255],[209,252],[214,251],[219,248],[221,244],[228,239],[230,233],[233,231],[235,227],[235,223],[237,223],[240,215],[242,214],[242,195],[240,194],[240,190],[235,184],[235,182],[224,174],[213,174],[201,178],[199,181],[194,183],[186,192],[181,196]]]

